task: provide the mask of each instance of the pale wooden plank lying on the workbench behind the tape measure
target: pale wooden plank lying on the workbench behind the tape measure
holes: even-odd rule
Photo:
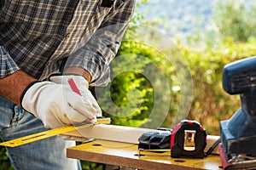
[[[79,129],[77,132],[73,133],[65,133],[67,135],[73,135],[77,137],[86,137],[89,139],[103,139],[109,141],[123,142],[129,144],[138,144],[138,138],[146,132],[154,131],[154,132],[163,132],[149,128],[141,128],[141,127],[123,127],[116,125],[96,125],[93,127],[85,127],[83,129]],[[219,139],[219,136],[207,135],[207,146],[205,151],[214,144],[216,140]],[[218,148],[213,150],[214,154],[218,154]]]

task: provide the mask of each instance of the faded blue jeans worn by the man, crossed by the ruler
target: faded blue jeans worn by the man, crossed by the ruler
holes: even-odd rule
[[[0,137],[3,141],[45,130],[49,129],[44,128],[38,118],[0,95]],[[6,149],[15,169],[76,170],[81,169],[79,160],[66,157],[67,147],[74,144],[74,141],[55,136]]]

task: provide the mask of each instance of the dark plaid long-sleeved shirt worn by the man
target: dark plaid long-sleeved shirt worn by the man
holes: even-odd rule
[[[90,72],[91,85],[106,85],[135,3],[107,1],[1,1],[0,78],[22,70],[44,79],[67,60]]]

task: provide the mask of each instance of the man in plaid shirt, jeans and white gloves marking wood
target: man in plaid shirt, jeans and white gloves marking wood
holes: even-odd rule
[[[109,82],[109,63],[131,20],[134,0],[2,0],[0,136],[96,122],[88,85]],[[61,75],[53,73],[61,72]],[[75,92],[73,81],[79,88]],[[7,148],[15,169],[79,169],[59,137]]]

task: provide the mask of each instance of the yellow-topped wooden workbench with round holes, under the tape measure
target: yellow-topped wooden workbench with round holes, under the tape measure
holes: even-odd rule
[[[172,158],[169,155],[138,156],[137,144],[95,140],[67,148],[67,157],[137,169],[221,169],[218,155],[203,159]]]

